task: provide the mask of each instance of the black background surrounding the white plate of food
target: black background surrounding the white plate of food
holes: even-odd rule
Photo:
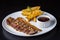
[[[35,37],[19,37],[2,28],[2,20],[8,14],[20,11],[27,6],[41,6],[41,10],[54,15],[58,21],[50,32]],[[0,40],[60,40],[60,2],[58,0],[1,0],[0,1]]]

